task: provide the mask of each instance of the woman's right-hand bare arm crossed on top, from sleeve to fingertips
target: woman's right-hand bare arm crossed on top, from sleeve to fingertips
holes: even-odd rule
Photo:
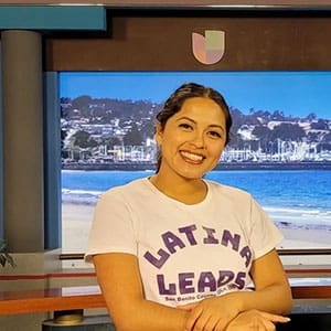
[[[191,311],[186,330],[225,330],[241,312],[249,310],[280,316],[290,312],[291,290],[275,249],[253,263],[252,278],[254,291],[236,291],[182,307]]]

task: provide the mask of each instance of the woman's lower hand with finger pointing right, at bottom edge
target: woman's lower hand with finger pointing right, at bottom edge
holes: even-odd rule
[[[226,331],[275,331],[275,323],[287,323],[289,318],[259,310],[248,310],[239,313],[229,322]]]

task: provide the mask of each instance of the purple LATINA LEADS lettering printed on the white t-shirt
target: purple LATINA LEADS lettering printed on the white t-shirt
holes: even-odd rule
[[[226,228],[217,231],[204,225],[189,224],[160,233],[160,238],[161,247],[154,246],[151,250],[147,250],[143,257],[158,269],[156,286],[166,301],[196,301],[245,288],[253,252],[243,235]],[[218,269],[215,261],[216,265],[212,269],[194,270],[193,264],[193,269],[177,269],[173,275],[168,273],[167,268],[163,271],[163,267],[172,256],[197,245],[201,249],[214,246],[217,252],[221,247],[236,252],[238,254],[236,267],[233,270],[221,267]],[[222,263],[218,266],[221,265]]]

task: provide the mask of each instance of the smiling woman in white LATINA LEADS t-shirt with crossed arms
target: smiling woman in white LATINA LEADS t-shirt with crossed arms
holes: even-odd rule
[[[231,126],[216,90],[182,85],[157,116],[156,174],[100,197],[86,259],[118,331],[275,330],[289,320],[279,231],[248,193],[203,179]]]

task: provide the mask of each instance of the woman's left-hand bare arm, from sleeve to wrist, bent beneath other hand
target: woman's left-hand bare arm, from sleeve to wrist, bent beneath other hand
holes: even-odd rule
[[[93,261],[117,331],[184,330],[186,311],[145,299],[136,256],[100,254]]]

